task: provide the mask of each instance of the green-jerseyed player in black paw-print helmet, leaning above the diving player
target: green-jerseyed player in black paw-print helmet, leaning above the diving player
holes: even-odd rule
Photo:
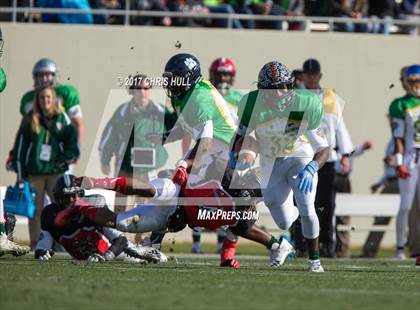
[[[171,57],[163,76],[163,86],[178,113],[178,126],[165,140],[181,139],[185,132],[195,140],[194,147],[177,164],[175,183],[184,184],[187,175],[192,183],[210,177],[221,181],[236,130],[236,116],[217,89],[202,79],[200,63],[193,55]]]

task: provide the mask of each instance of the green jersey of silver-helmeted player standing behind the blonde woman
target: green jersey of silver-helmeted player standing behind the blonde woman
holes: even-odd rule
[[[56,85],[54,89],[57,93],[57,100],[61,111],[66,112],[70,118],[82,116],[79,94],[73,85],[60,84]],[[22,100],[20,101],[20,114],[22,114],[22,116],[25,116],[32,111],[34,100],[35,90],[28,91],[23,95]]]

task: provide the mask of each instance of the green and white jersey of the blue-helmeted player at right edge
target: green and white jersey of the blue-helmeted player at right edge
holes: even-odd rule
[[[404,139],[406,150],[420,148],[420,98],[407,94],[395,99],[389,115],[392,135]]]

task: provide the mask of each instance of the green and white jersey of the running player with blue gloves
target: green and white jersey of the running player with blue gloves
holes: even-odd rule
[[[266,95],[258,90],[248,93],[238,110],[239,132],[255,130],[263,157],[308,157],[313,156],[314,149],[328,146],[319,129],[324,108],[317,95],[296,90],[292,103],[285,109],[268,105]]]

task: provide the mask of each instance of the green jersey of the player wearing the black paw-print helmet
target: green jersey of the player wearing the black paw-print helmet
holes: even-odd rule
[[[172,104],[181,125],[196,140],[210,137],[231,142],[237,127],[236,115],[209,81],[201,80],[182,99],[173,99]]]

